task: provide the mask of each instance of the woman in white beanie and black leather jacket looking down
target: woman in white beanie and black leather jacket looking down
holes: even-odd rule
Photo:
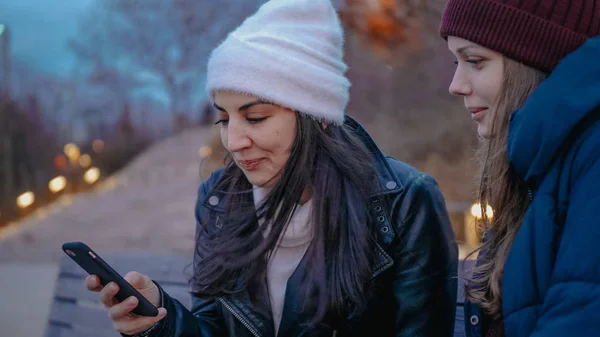
[[[330,0],[271,0],[208,62],[229,162],[199,188],[191,310],[136,272],[157,317],[100,291],[141,336],[452,336],[457,246],[435,180],[344,114]]]

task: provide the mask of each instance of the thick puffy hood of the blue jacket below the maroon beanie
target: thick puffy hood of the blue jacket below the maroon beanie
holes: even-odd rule
[[[511,115],[508,160],[530,186],[541,179],[578,123],[600,105],[600,36],[565,57]]]

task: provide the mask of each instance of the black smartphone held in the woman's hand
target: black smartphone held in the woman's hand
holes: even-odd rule
[[[132,310],[134,314],[150,317],[158,316],[158,309],[85,243],[66,242],[62,245],[62,249],[88,274],[98,276],[103,286],[110,282],[116,283],[119,286],[119,292],[115,295],[115,298],[119,302],[130,296],[135,296],[138,299],[138,305]]]

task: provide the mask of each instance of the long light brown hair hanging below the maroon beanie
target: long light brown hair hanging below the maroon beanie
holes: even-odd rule
[[[465,291],[470,301],[478,303],[493,317],[502,315],[504,263],[530,202],[527,186],[508,162],[509,118],[545,78],[546,74],[537,69],[504,58],[504,80],[492,120],[492,137],[482,140],[479,151],[482,168],[479,229],[481,233],[491,229],[491,233],[475,251],[483,252],[486,259],[474,268],[474,276],[468,280]],[[486,205],[494,210],[491,218],[486,215]]]

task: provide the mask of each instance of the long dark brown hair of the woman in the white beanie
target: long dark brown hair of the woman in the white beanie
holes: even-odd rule
[[[348,126],[327,125],[297,113],[290,157],[262,206],[255,209],[252,185],[229,160],[214,189],[227,193],[226,214],[197,235],[192,285],[197,296],[237,293],[264,281],[268,254],[277,244],[303,193],[312,196],[313,239],[305,259],[310,268],[299,291],[316,310],[314,322],[335,310],[360,313],[370,296],[374,238],[368,198],[375,171],[365,145]],[[264,224],[271,223],[265,237]],[[312,309],[311,309],[312,310]]]

